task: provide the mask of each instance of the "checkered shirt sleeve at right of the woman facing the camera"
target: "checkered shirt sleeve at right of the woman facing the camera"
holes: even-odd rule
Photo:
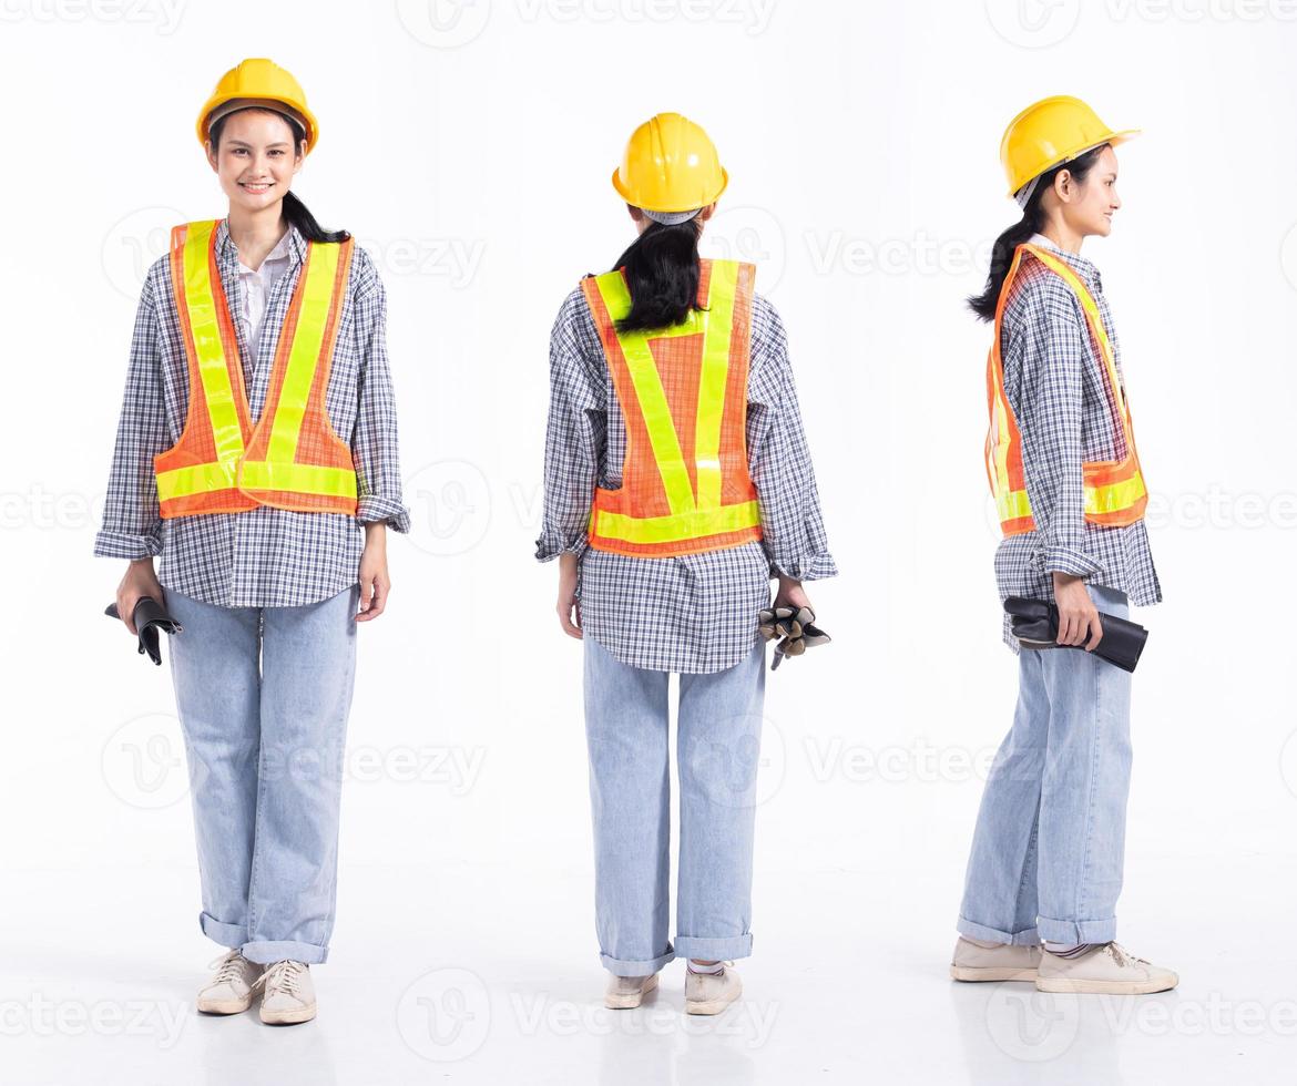
[[[357,341],[366,343],[358,386],[351,455],[357,476],[357,512],[362,524],[385,522],[393,531],[410,531],[410,511],[401,492],[397,439],[397,400],[388,364],[387,290],[372,259],[357,248]]]

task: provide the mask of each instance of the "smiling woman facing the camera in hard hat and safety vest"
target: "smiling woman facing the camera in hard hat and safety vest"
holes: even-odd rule
[[[198,1010],[315,1016],[328,956],[357,621],[383,613],[401,504],[383,284],[289,192],[318,136],[267,60],[217,84],[198,139],[230,198],[148,273],[95,553],[128,559],[171,639],[202,911],[227,953]],[[153,556],[162,566],[154,574]],[[359,610],[358,610],[359,608]]]

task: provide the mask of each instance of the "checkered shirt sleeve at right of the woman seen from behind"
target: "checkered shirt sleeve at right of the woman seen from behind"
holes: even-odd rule
[[[835,577],[783,321],[760,295],[752,312],[747,442],[748,472],[761,505],[761,548],[770,577]]]

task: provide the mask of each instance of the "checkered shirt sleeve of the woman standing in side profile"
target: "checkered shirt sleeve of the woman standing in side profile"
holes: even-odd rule
[[[1082,447],[1088,329],[1070,289],[1054,275],[1036,277],[1027,319],[1010,338],[1021,372],[1022,469],[1045,573],[1087,577],[1101,566],[1086,547]],[[1006,389],[1008,393],[1008,389]],[[1010,402],[1012,403],[1012,402]]]

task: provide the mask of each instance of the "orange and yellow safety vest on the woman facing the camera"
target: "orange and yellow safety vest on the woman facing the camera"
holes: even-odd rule
[[[171,290],[189,364],[180,439],[153,457],[163,517],[275,505],[355,516],[351,450],[324,395],[351,268],[351,238],[306,246],[261,419],[252,422],[243,364],[217,267],[217,222],[171,231]]]

